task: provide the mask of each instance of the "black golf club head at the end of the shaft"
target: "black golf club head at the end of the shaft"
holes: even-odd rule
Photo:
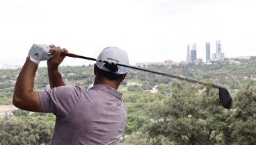
[[[225,89],[223,87],[218,87],[218,90],[219,90],[218,94],[220,97],[221,105],[226,109],[232,108],[233,97],[232,97],[232,94],[230,93],[230,90]]]

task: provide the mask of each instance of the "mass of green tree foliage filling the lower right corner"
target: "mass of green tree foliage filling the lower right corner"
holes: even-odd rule
[[[235,94],[232,110],[220,105],[218,90],[210,86],[177,81],[172,85],[171,98],[151,106],[154,121],[143,126],[143,135],[127,139],[129,144],[255,144],[253,81]]]

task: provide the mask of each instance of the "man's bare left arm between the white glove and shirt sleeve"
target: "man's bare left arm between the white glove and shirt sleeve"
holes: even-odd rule
[[[22,110],[44,112],[38,91],[33,91],[36,69],[38,69],[38,64],[26,58],[15,85],[13,105]]]

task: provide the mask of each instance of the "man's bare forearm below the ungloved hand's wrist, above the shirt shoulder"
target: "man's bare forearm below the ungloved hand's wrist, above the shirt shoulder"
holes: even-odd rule
[[[66,85],[58,69],[52,70],[48,67],[48,76],[51,89],[54,87],[61,87],[63,85]]]

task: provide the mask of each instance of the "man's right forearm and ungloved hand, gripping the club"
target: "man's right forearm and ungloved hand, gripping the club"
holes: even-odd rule
[[[49,84],[51,89],[54,87],[61,87],[66,85],[63,81],[60,71],[58,71],[58,65],[60,65],[65,58],[65,56],[60,56],[61,51],[68,53],[67,49],[61,49],[60,47],[51,45],[50,53],[56,54],[55,58],[47,60]]]

